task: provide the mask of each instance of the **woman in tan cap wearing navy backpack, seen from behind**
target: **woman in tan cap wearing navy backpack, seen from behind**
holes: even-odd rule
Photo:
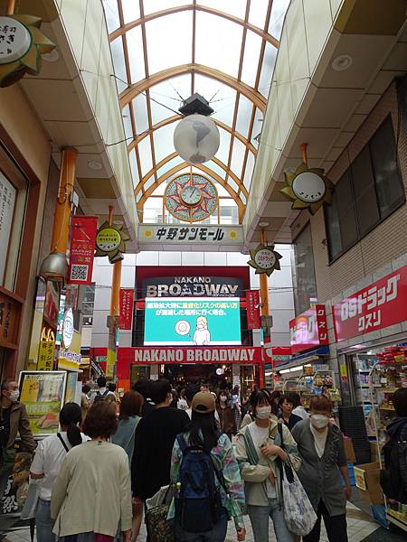
[[[175,518],[177,542],[223,542],[231,517],[238,540],[246,537],[241,474],[230,439],[218,430],[215,409],[212,394],[197,393],[192,423],[175,440],[171,459],[175,506],[168,519]]]

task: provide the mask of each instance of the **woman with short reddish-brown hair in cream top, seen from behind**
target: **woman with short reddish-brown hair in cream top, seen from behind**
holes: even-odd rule
[[[113,405],[90,406],[83,432],[91,440],[67,454],[52,487],[53,532],[60,542],[113,542],[119,525],[123,542],[130,542],[128,454],[108,442],[117,428]]]

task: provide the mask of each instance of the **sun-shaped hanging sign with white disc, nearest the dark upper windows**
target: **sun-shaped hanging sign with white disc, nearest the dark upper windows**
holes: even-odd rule
[[[324,170],[300,164],[294,173],[284,173],[287,186],[279,192],[292,201],[291,209],[308,209],[314,215],[324,203],[332,203],[334,185]]]

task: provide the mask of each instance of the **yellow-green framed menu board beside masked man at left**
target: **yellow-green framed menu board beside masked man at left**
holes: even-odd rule
[[[21,372],[21,402],[27,409],[33,435],[52,435],[58,432],[66,375],[66,371],[58,370]]]

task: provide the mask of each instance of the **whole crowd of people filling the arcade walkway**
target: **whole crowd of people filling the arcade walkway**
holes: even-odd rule
[[[16,382],[2,384],[0,475],[10,472],[19,433],[27,450],[36,448],[30,477],[38,484],[39,542],[135,542],[149,500],[163,488],[164,521],[177,542],[222,542],[229,520],[244,540],[245,514],[255,542],[268,542],[270,523],[279,542],[298,535],[317,542],[322,519],[330,542],[346,542],[351,485],[327,397],[313,397],[308,413],[298,394],[267,389],[240,402],[237,388],[215,394],[191,384],[177,393],[166,379],[141,379],[118,402],[106,378],[98,386],[92,395],[83,387],[81,406],[65,404],[60,431],[37,446]],[[397,394],[400,430],[407,389]],[[298,510],[288,472],[305,490]],[[313,517],[308,532],[292,528],[296,514]],[[148,518],[147,540],[156,542]]]

